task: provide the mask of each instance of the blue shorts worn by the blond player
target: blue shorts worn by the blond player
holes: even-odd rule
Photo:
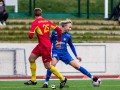
[[[54,50],[52,51],[52,58],[56,58],[58,61],[61,60],[65,64],[69,64],[73,60],[73,58],[67,51],[57,52],[56,50]]]

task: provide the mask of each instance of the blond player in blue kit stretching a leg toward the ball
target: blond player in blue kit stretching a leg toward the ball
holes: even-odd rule
[[[59,62],[59,60],[61,60],[65,64],[71,65],[72,67],[74,67],[75,69],[77,69],[78,71],[83,73],[84,75],[88,76],[93,81],[97,81],[98,78],[93,77],[90,74],[90,72],[88,72],[84,67],[77,64],[77,62],[71,57],[71,55],[69,54],[69,52],[67,50],[67,44],[69,44],[76,59],[81,61],[81,58],[77,56],[75,47],[72,43],[71,34],[69,33],[69,31],[72,28],[72,21],[70,19],[61,21],[60,26],[62,28],[62,38],[61,38],[61,47],[60,48],[56,48],[56,46],[55,46],[55,44],[57,43],[57,37],[58,37],[57,32],[55,30],[53,30],[52,35],[51,35],[51,42],[52,42],[52,62],[51,62],[51,64],[53,66],[55,66]],[[52,74],[51,71],[47,70],[46,79],[45,79],[45,82],[44,82],[42,88],[48,88],[48,81],[51,77],[51,74]]]

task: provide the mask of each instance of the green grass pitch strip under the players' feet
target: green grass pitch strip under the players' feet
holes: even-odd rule
[[[52,84],[59,89],[59,81],[51,80],[49,88],[41,88],[42,81],[38,81],[35,86],[25,86],[24,81],[0,81],[0,90],[52,90]],[[68,80],[66,87],[62,90],[120,90],[120,79],[102,80],[100,87],[93,87],[90,80]]]

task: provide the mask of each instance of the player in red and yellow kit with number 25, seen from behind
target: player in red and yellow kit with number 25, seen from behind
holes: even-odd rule
[[[41,56],[44,66],[46,69],[49,69],[54,75],[56,75],[61,83],[60,88],[65,86],[67,79],[63,77],[59,71],[50,64],[52,61],[51,57],[51,42],[49,38],[50,28],[57,31],[58,34],[58,42],[56,43],[56,47],[60,47],[61,41],[61,32],[62,30],[51,21],[42,18],[42,10],[40,8],[35,8],[34,16],[36,18],[35,21],[32,22],[31,29],[29,32],[29,38],[32,39],[34,34],[36,33],[38,38],[38,45],[32,50],[31,55],[29,56],[30,69],[31,69],[31,80],[25,82],[25,85],[36,85],[36,63],[35,60]]]

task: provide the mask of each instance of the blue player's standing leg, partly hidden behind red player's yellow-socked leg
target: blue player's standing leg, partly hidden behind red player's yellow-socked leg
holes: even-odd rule
[[[52,58],[51,64],[53,66],[56,66],[57,63],[58,63],[58,60],[56,58]],[[48,82],[49,82],[49,79],[51,77],[51,74],[52,74],[52,72],[47,69],[45,82],[44,82],[42,88],[48,88]]]

